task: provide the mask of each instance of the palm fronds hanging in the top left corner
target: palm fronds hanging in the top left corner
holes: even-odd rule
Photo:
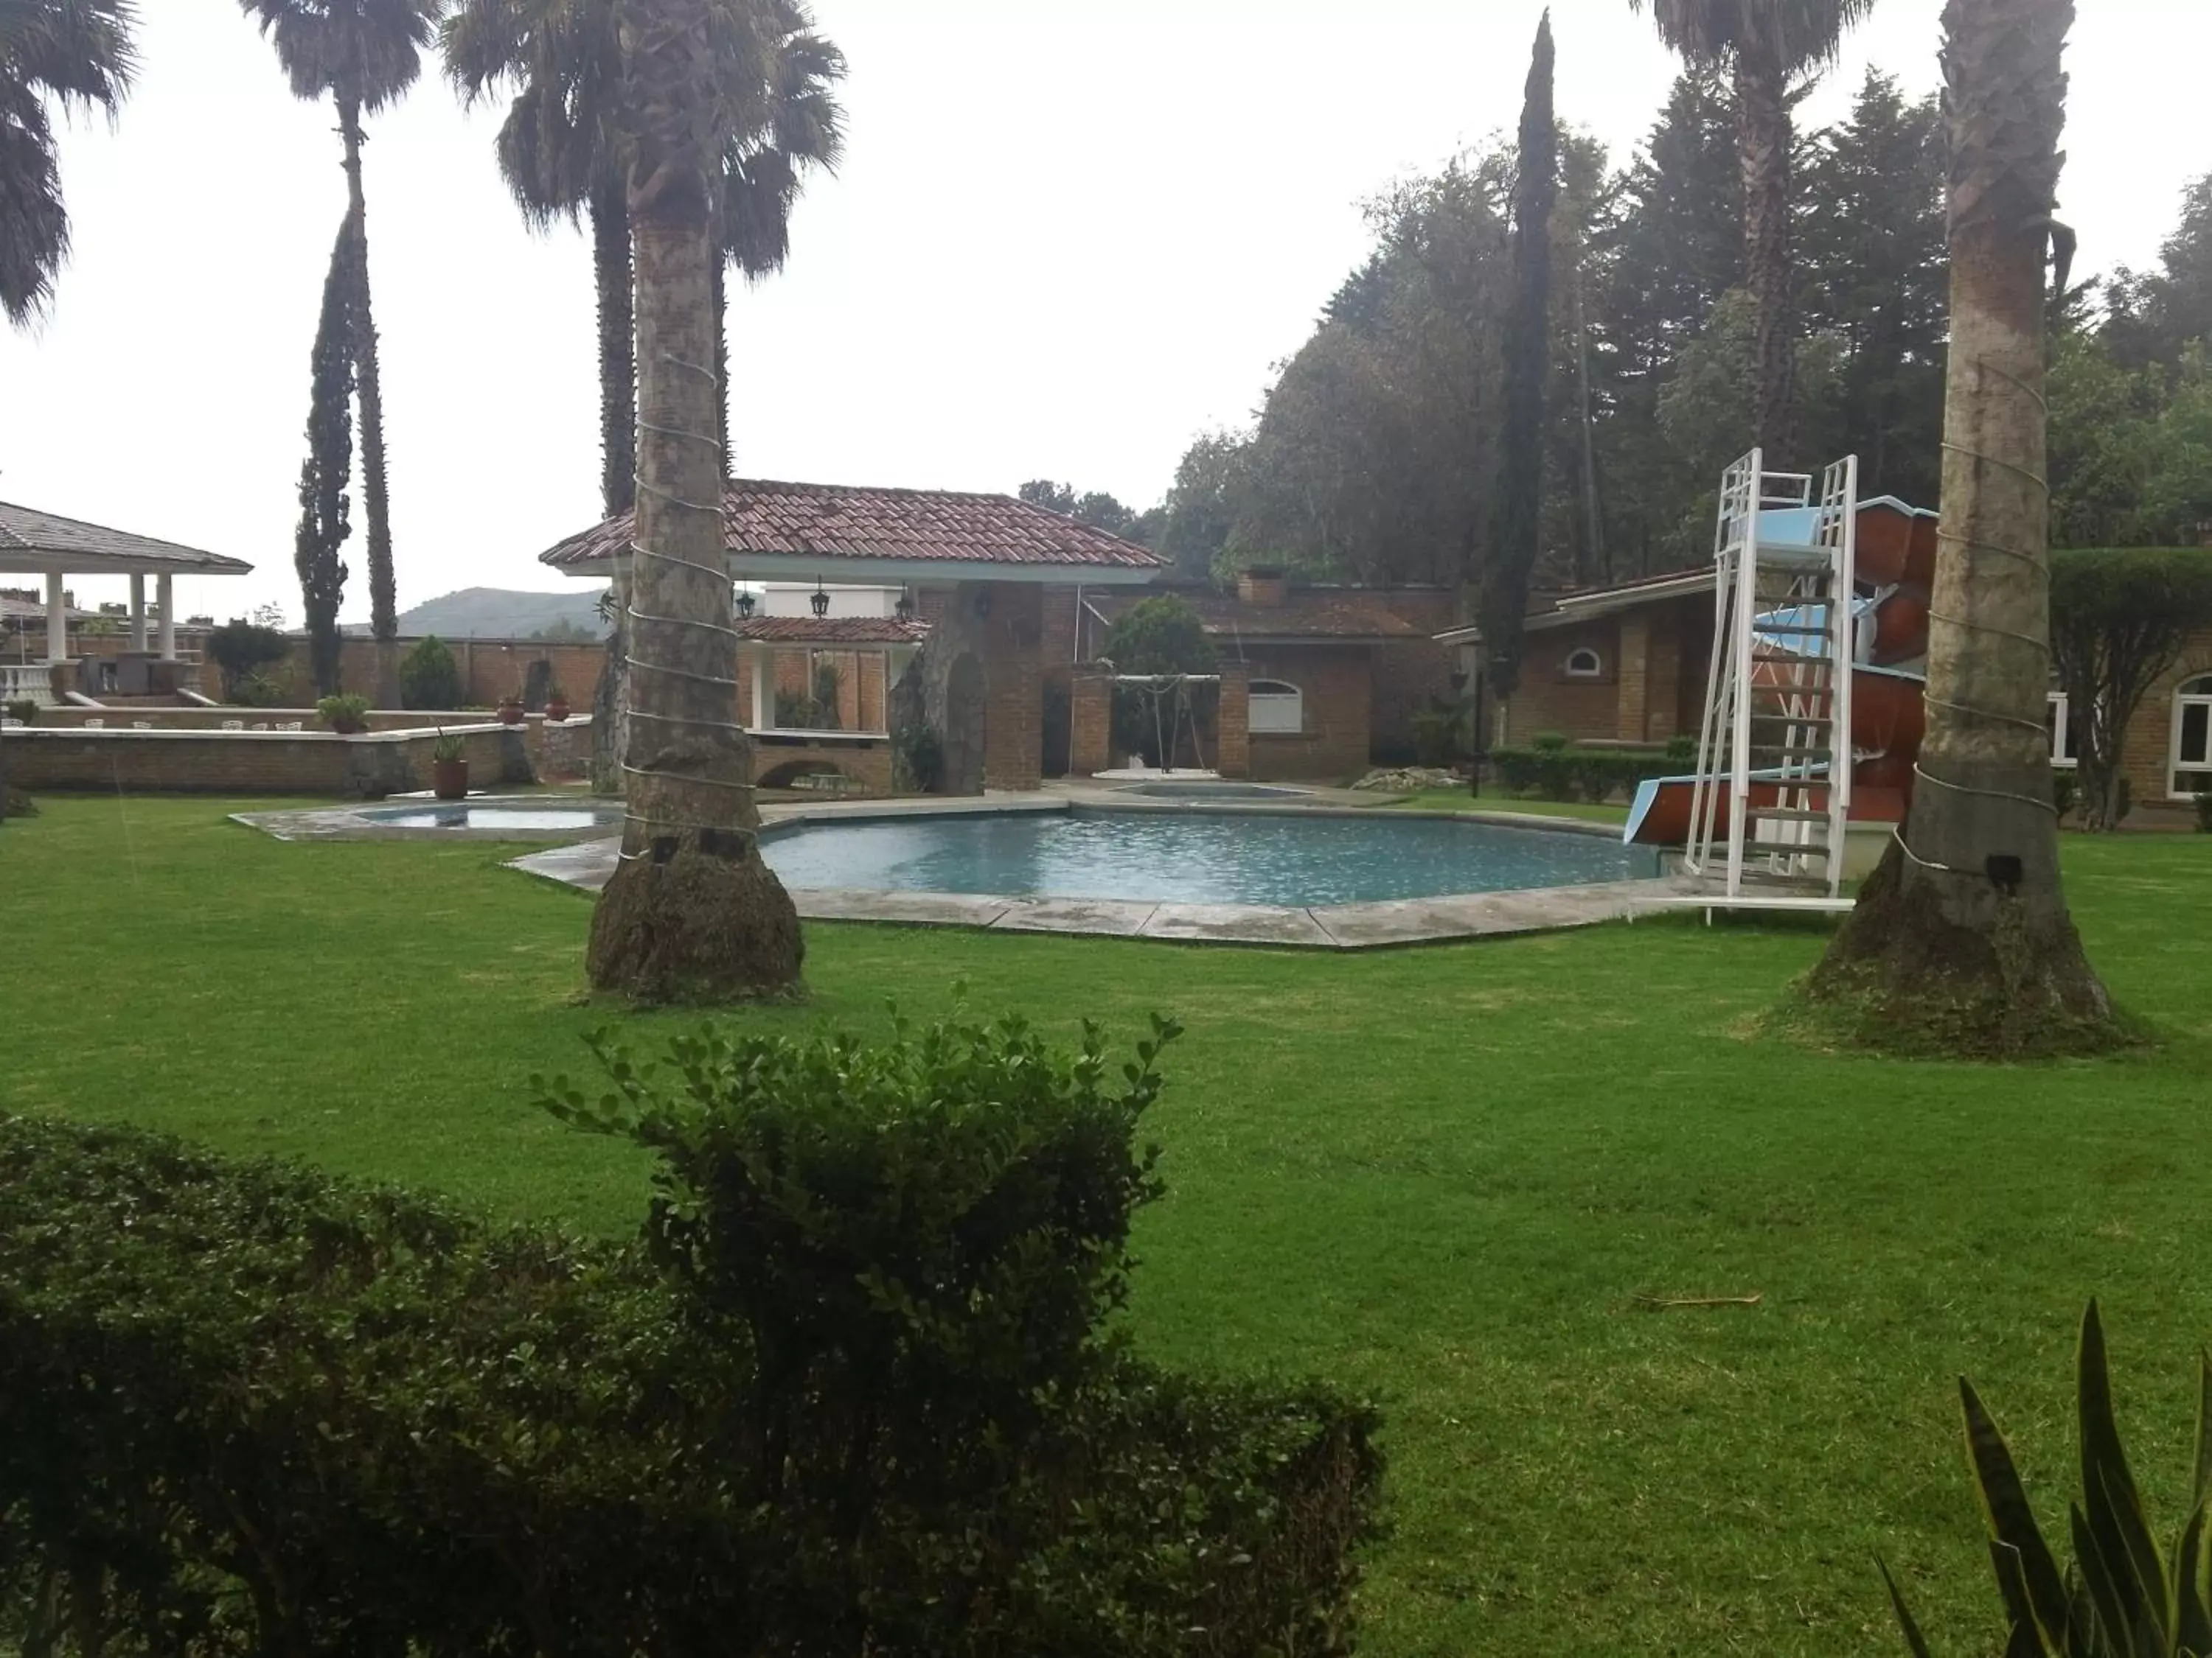
[[[133,0],[0,0],[0,312],[18,327],[46,309],[69,254],[46,99],[113,115],[135,22]]]

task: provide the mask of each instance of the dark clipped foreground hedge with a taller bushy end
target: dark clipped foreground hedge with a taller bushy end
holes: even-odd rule
[[[1170,1035],[599,1043],[630,1247],[0,1119],[0,1651],[1347,1651],[1374,1413],[1099,1333]]]

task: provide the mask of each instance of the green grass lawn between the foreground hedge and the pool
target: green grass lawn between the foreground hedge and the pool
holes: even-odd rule
[[[588,900],[513,849],[283,844],[226,809],[53,798],[0,829],[0,1110],[628,1227],[639,1158],[529,1105],[611,1017],[577,1004]],[[741,1017],[880,1028],[967,979],[1062,1032],[1188,1021],[1137,1333],[1383,1399],[1369,1651],[1896,1654],[1876,1552],[1949,1649],[1993,1651],[1955,1373],[2062,1528],[2101,1295],[2163,1532],[2212,1337],[2212,838],[2068,838],[2066,871],[2161,1050],[1809,1052],[1756,1017],[1820,933],[1688,917],[1352,957],[810,926],[812,1006]]]

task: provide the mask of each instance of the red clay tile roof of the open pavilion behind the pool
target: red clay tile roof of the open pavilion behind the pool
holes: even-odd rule
[[[1044,506],[1011,495],[942,489],[854,489],[734,478],[721,497],[730,553],[781,553],[827,559],[911,559],[945,564],[1026,564],[1124,570],[1164,568],[1161,559]],[[622,557],[633,517],[571,535],[540,555],[555,568]]]

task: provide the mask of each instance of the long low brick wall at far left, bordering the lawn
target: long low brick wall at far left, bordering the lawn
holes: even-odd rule
[[[473,787],[533,783],[522,727],[453,727]],[[7,734],[9,783],[117,794],[321,794],[374,798],[429,787],[438,732],[186,732],[27,727]]]

